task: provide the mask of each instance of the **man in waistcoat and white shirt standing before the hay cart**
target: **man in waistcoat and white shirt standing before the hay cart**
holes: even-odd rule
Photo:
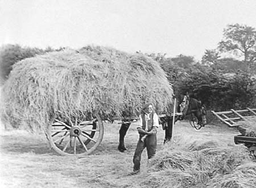
[[[152,103],[147,103],[139,115],[139,140],[133,156],[133,173],[137,174],[141,167],[141,154],[147,148],[147,157],[150,159],[156,152],[156,128],[159,127],[158,115],[153,111]]]

